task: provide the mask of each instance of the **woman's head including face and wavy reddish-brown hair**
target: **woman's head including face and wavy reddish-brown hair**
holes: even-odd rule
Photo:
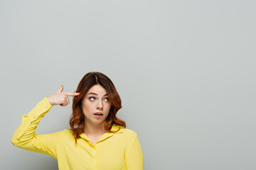
[[[88,121],[93,121],[93,123],[104,121],[105,130],[108,132],[110,132],[113,124],[126,127],[125,122],[116,116],[117,111],[122,108],[121,98],[114,84],[105,74],[100,72],[85,74],[75,92],[80,93],[79,96],[73,98],[73,113],[70,117],[70,128],[73,131],[75,142],[77,142],[77,138]],[[107,95],[105,96],[105,94]],[[102,118],[95,118],[96,116],[92,115],[95,112],[102,112],[104,115]],[[85,120],[86,118],[87,120]]]

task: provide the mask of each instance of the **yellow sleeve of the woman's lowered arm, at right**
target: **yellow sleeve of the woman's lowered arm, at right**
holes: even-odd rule
[[[127,170],[143,170],[144,169],[142,147],[139,143],[137,134],[132,140],[132,143],[127,147],[125,164],[127,166]]]

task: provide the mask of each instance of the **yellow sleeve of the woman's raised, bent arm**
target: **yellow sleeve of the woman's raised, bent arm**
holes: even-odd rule
[[[57,159],[56,148],[63,136],[63,131],[45,135],[35,134],[38,123],[52,107],[47,96],[38,102],[36,107],[27,115],[23,115],[21,125],[14,132],[11,143],[21,149],[48,154]]]

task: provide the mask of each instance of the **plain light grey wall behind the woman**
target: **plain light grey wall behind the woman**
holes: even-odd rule
[[[0,1],[0,169],[58,169],[11,145],[22,115],[87,72],[112,79],[144,169],[256,169],[255,1]],[[54,106],[37,134],[69,128]]]

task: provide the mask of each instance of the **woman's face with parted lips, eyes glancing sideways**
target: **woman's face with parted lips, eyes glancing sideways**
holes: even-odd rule
[[[96,84],[92,86],[82,98],[82,112],[85,115],[85,124],[102,124],[105,122],[107,115],[110,113],[110,101],[108,100],[107,91]],[[95,115],[95,113],[102,115]]]

